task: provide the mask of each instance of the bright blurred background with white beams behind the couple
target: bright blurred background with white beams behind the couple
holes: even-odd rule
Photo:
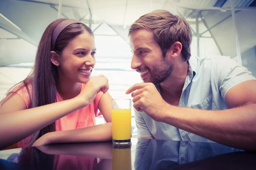
[[[58,18],[79,20],[93,30],[94,74],[109,79],[111,96],[128,97],[125,91],[141,82],[130,68],[128,29],[156,9],[189,22],[192,56],[230,56],[256,76],[256,0],[0,0],[0,98],[29,74],[41,35]],[[99,117],[96,122],[105,120]]]

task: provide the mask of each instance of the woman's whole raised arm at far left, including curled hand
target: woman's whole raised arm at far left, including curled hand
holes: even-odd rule
[[[99,75],[90,79],[83,91],[73,99],[25,110],[23,110],[25,103],[17,94],[3,99],[0,102],[0,149],[14,144],[61,117],[89,105],[98,91],[105,94],[108,87],[108,79]]]

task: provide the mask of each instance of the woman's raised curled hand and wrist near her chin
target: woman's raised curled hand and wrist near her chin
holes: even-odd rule
[[[77,97],[83,101],[85,107],[93,101],[97,93],[102,91],[105,94],[108,88],[108,79],[104,75],[99,75],[91,78]]]

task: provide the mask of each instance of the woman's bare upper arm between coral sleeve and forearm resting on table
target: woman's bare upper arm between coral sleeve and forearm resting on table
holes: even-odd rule
[[[105,121],[112,122],[112,97],[108,92],[102,95],[99,100],[98,108]]]

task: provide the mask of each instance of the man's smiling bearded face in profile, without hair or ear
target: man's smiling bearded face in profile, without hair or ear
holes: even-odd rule
[[[131,68],[140,73],[143,82],[159,84],[171,74],[173,64],[162,51],[154,39],[151,31],[138,29],[130,37],[131,51],[134,53]]]

